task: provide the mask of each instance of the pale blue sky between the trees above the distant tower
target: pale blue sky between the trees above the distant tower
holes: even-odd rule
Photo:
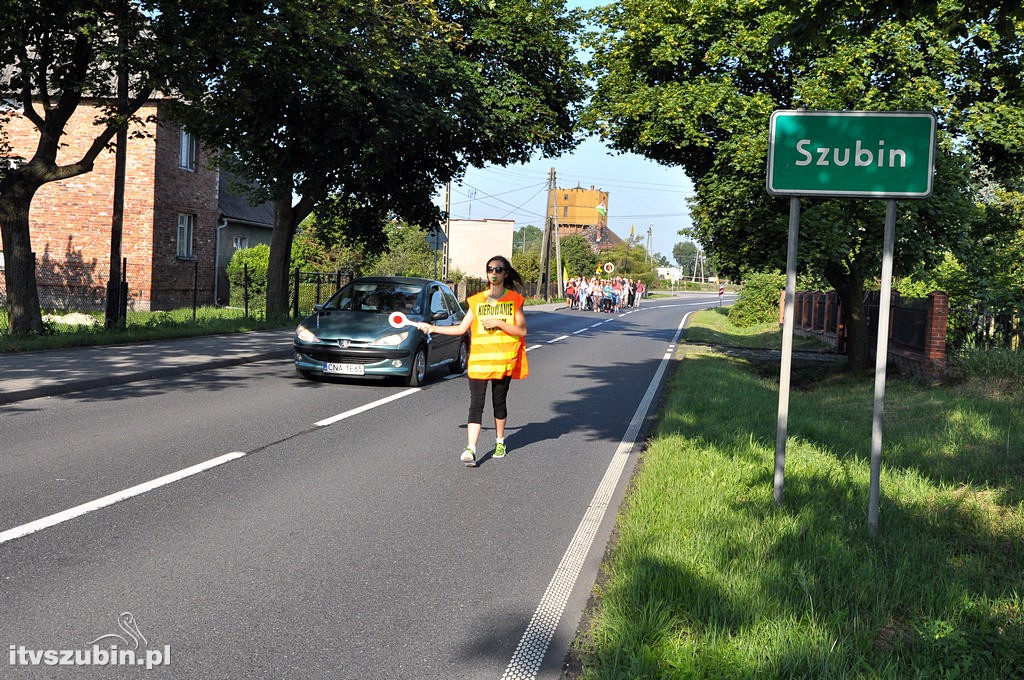
[[[595,0],[568,0],[570,7],[590,9]],[[608,192],[608,226],[620,237],[630,228],[651,250],[672,258],[673,247],[685,239],[690,225],[686,199],[693,186],[681,168],[668,168],[633,154],[612,154],[596,138],[559,158],[538,158],[508,167],[470,168],[461,184],[452,184],[452,217],[457,219],[513,219],[516,228],[544,226],[548,175],[555,169],[560,188],[577,185]],[[443,192],[440,197],[443,205]]]

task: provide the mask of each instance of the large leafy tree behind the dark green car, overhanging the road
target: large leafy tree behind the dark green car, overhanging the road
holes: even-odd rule
[[[258,182],[254,200],[274,203],[268,315],[287,311],[291,242],[317,204],[383,248],[392,217],[437,224],[435,188],[469,165],[577,141],[580,17],[562,0],[253,6],[234,26],[260,40],[206,59],[206,87],[180,116]]]

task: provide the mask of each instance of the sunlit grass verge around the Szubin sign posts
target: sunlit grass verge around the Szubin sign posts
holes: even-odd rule
[[[586,678],[1009,678],[1024,669],[1024,395],[890,380],[878,536],[869,378],[791,394],[691,348],[574,647]]]

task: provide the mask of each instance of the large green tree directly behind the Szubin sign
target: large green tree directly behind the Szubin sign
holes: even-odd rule
[[[909,271],[979,218],[971,168],[1020,176],[1021,17],[1019,3],[997,1],[622,0],[594,14],[586,120],[616,150],[686,169],[693,236],[737,277],[785,262],[788,201],[764,188],[772,111],[934,112],[934,196],[898,216],[896,267]],[[800,266],[836,288],[851,364],[863,366],[884,204],[802,203]]]

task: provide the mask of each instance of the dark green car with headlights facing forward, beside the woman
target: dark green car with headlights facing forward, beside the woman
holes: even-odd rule
[[[428,373],[466,370],[467,335],[426,335],[415,326],[395,328],[389,316],[457,326],[465,312],[439,281],[407,277],[355,279],[335,293],[295,331],[295,369],[307,378],[393,377],[422,385]]]

